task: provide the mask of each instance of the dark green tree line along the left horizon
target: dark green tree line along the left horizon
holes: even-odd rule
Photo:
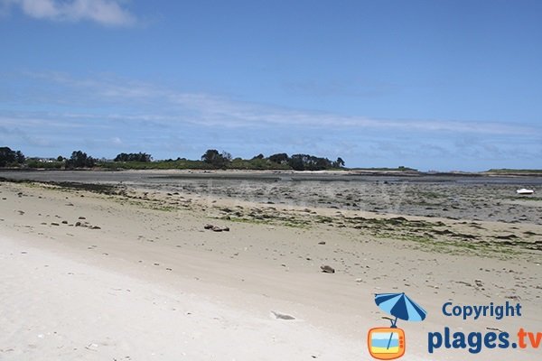
[[[97,160],[82,151],[73,151],[70,158],[59,155],[56,159],[42,160],[37,158],[27,159],[21,151],[13,151],[9,147],[0,148],[0,167],[29,167],[29,168],[58,168],[80,169],[93,168],[96,166],[106,168],[154,168],[151,165],[159,165],[157,168],[204,168],[204,169],[291,169],[295,171],[322,171],[340,169],[345,162],[341,157],[335,161],[328,158],[317,157],[311,154],[276,153],[266,157],[259,153],[251,159],[233,158],[231,153],[219,152],[216,149],[208,149],[201,155],[198,161],[190,161],[177,158],[176,161],[155,161],[149,166],[146,163],[153,162],[149,153],[119,153],[112,161]]]

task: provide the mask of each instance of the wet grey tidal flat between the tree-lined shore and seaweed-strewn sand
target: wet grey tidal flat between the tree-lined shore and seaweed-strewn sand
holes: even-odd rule
[[[542,177],[368,176],[290,172],[0,171],[14,180],[127,185],[296,207],[542,224]]]

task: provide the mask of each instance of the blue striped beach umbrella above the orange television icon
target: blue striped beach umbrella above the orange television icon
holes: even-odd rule
[[[427,312],[415,301],[412,301],[405,292],[402,293],[377,293],[375,302],[380,310],[395,317],[391,319],[391,327],[396,328],[397,319],[406,321],[423,321]]]

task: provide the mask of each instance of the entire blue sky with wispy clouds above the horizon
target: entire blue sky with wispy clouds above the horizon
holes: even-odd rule
[[[0,145],[542,168],[540,1],[0,0]]]

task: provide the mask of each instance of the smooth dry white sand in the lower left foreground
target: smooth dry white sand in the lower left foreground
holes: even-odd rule
[[[357,359],[359,339],[303,319],[81,264],[0,238],[2,360]]]

